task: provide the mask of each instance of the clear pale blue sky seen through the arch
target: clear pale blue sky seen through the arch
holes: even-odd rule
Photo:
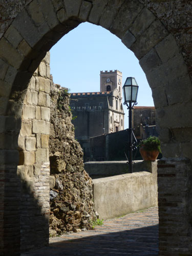
[[[138,105],[154,106],[152,91],[134,53],[121,40],[100,26],[82,23],[63,36],[51,49],[53,81],[70,92],[99,92],[100,71],[122,72],[135,77],[138,86]],[[124,106],[124,127],[128,127],[128,112]]]

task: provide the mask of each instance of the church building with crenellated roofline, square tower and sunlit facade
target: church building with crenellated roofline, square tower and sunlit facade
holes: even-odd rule
[[[100,72],[100,92],[71,93],[75,138],[86,140],[124,130],[122,73]]]

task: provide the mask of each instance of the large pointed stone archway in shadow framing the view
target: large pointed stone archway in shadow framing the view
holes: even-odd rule
[[[63,35],[86,21],[100,25],[121,38],[123,44],[135,53],[146,74],[152,88],[164,156],[159,163],[158,177],[160,254],[191,252],[189,159],[192,133],[188,118],[191,115],[191,80],[169,27],[165,23],[163,25],[141,2],[48,0],[39,4],[37,0],[32,0],[26,5],[20,3],[22,8],[19,6],[17,9],[16,5],[15,13],[12,12],[10,17],[8,15],[8,22],[5,20],[0,40],[0,161],[3,177],[0,225],[4,254],[12,253],[9,244],[14,247],[15,255],[19,254],[20,202],[16,141],[28,81],[46,52]],[[9,18],[12,18],[10,22]]]

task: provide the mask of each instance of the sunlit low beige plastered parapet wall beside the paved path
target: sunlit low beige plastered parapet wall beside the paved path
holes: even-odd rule
[[[140,165],[148,166],[148,171],[93,180],[99,219],[111,219],[157,205],[157,161]]]

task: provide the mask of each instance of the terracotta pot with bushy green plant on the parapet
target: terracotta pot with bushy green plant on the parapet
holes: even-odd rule
[[[160,140],[155,136],[150,136],[139,143],[139,152],[143,160],[156,160],[161,152]]]

